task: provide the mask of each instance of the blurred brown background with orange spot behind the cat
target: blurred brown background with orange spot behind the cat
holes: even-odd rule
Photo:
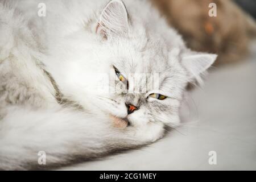
[[[255,0],[151,0],[196,51],[217,53],[215,65],[241,61],[256,36]],[[217,16],[210,17],[209,4]]]

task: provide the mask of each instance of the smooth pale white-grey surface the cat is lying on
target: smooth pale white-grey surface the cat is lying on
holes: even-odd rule
[[[76,170],[256,170],[256,55],[212,70],[202,89],[187,98],[185,124],[136,151],[61,169]],[[209,165],[208,152],[217,152]]]

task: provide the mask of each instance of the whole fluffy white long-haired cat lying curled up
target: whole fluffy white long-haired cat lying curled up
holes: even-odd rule
[[[0,32],[1,169],[67,165],[162,138],[179,126],[187,83],[217,57],[185,47],[148,1],[0,1]],[[158,75],[159,88],[133,82],[141,73]]]

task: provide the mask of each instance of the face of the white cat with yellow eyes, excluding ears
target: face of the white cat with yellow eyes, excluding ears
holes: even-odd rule
[[[143,39],[151,42],[142,44]],[[187,73],[175,63],[177,60],[170,61],[160,40],[156,44],[152,39],[144,35],[133,40],[119,38],[110,42],[112,46],[105,43],[106,48],[111,47],[106,68],[112,81],[109,92],[101,93],[97,104],[106,113],[126,118],[133,125],[162,122],[174,126],[179,123],[178,109]],[[122,48],[117,46],[119,43]]]

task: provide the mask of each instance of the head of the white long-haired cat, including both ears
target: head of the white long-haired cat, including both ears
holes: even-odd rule
[[[110,83],[112,92],[93,98],[97,99],[94,104],[132,125],[176,126],[185,86],[200,78],[216,59],[216,55],[190,51],[174,30],[159,25],[166,30],[156,31],[152,24],[137,21],[122,1],[113,0],[96,26],[101,49],[105,49],[104,69],[115,80]]]

